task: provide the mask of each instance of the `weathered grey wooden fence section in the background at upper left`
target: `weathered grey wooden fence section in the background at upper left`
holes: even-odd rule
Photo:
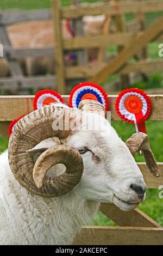
[[[0,38],[3,44],[4,57],[7,58],[11,77],[0,77],[1,92],[8,90],[12,94],[20,94],[23,90],[55,88],[54,76],[24,76],[18,59],[27,57],[44,57],[54,54],[53,47],[45,48],[13,48],[7,33],[7,25],[23,21],[51,19],[51,11],[3,11],[0,12]]]

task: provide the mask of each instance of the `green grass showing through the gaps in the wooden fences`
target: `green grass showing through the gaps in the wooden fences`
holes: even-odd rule
[[[98,0],[87,0],[82,2],[98,2]],[[102,1],[101,1],[102,2]],[[62,6],[66,6],[70,3],[68,0],[61,0]],[[0,9],[42,9],[50,8],[51,0],[1,0]],[[146,14],[147,25],[150,25],[154,22],[158,16],[162,13],[150,13]],[[126,15],[126,20],[133,19],[132,14]],[[108,54],[116,52],[115,46],[108,47]],[[148,55],[152,59],[158,57],[158,44],[152,43],[148,45]],[[116,79],[118,75],[111,77],[109,81]],[[148,82],[137,82],[133,84],[133,87],[137,88],[163,88],[163,74],[161,72],[149,74]],[[135,132],[134,125],[124,123],[122,121],[112,122],[112,125],[117,130],[118,134],[122,137],[124,141]],[[147,132],[151,142],[151,147],[154,152],[157,161],[163,162],[163,121],[147,121]],[[0,152],[7,149],[8,141],[0,136]],[[137,154],[135,157],[136,161],[143,161],[143,156]],[[141,203],[139,208],[144,211],[146,214],[151,216],[155,221],[163,226],[163,199],[158,197],[159,190],[157,189],[148,189],[147,197],[145,202]],[[116,225],[114,222],[109,220],[108,217],[103,215],[101,212],[98,213],[97,219],[94,221],[96,225]]]

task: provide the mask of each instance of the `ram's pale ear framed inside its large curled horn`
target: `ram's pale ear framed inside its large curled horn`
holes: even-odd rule
[[[60,145],[60,139],[58,137],[47,138],[37,144],[34,148],[26,151],[30,156],[33,156],[34,162],[39,156],[47,149]]]

